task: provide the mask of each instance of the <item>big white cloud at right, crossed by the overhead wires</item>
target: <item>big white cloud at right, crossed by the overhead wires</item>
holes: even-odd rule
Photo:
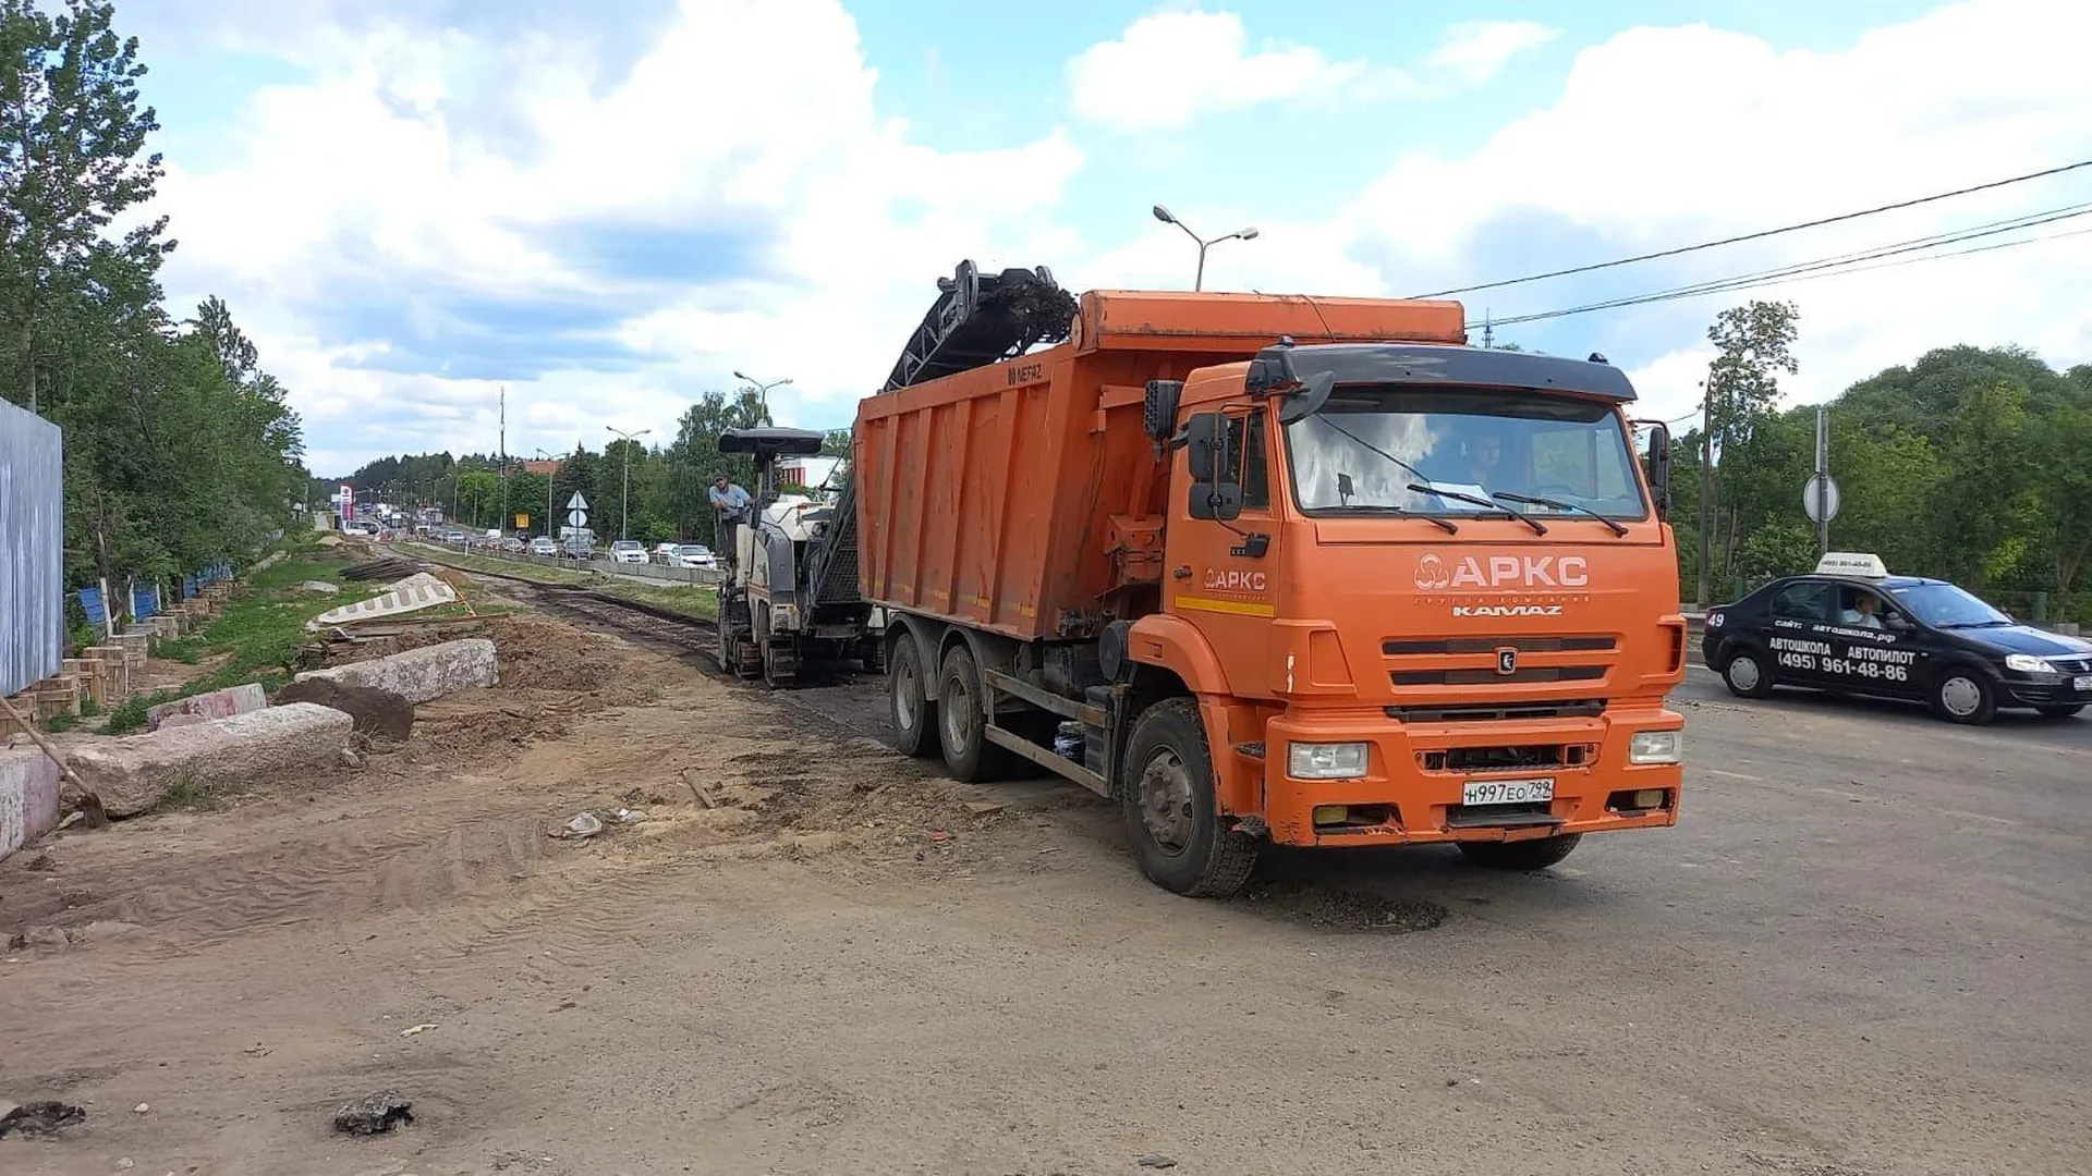
[[[1705,25],[1625,29],[1577,54],[1552,105],[1473,151],[1391,159],[1339,216],[1312,226],[1259,224],[1259,241],[1218,247],[1207,285],[1402,295],[2086,159],[2092,71],[2077,61],[2084,44],[2092,44],[2092,6],[2042,0],[1943,6],[1872,29],[1837,52],[1780,50]],[[1630,266],[1600,280],[1536,282],[1464,299],[1475,320],[1485,306],[1506,318],[2084,201],[2092,201],[2092,174],[2077,172],[1663,266]],[[1245,207],[1174,211],[1205,232],[1253,220]],[[2033,232],[2086,224],[2092,220]],[[1569,241],[1575,245],[1565,247]],[[1094,259],[1084,276],[1186,285],[1188,272],[1188,243],[1157,226]],[[1695,381],[1705,372],[1705,324],[1751,297],[1801,308],[1801,372],[1782,377],[1791,402],[1837,395],[1885,366],[1954,343],[2023,343],[2059,366],[2092,360],[2092,318],[2084,314],[2092,306],[2092,234],[1569,318],[1552,331],[1584,343],[1550,349],[1586,354],[1602,339],[1600,349],[1638,375],[1646,410],[1678,416],[1695,404]],[[1498,335],[1529,341],[1533,331]]]

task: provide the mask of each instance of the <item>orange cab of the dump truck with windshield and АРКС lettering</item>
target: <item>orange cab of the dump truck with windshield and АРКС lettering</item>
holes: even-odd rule
[[[1117,676],[1136,705],[1142,678],[1190,686],[1209,837],[1452,841],[1538,868],[1584,833],[1678,820],[1686,624],[1623,372],[1278,345],[1151,400],[1178,423],[1161,607],[1125,626]],[[1201,789],[1142,726],[1121,778],[1159,795],[1128,799],[1134,839],[1197,885],[1226,870]]]

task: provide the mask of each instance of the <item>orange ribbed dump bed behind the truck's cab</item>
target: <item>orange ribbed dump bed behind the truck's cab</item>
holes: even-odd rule
[[[858,406],[864,598],[1015,638],[1082,632],[1111,582],[1109,519],[1146,515],[1151,379],[1299,343],[1464,343],[1456,301],[1082,295],[1059,347]]]

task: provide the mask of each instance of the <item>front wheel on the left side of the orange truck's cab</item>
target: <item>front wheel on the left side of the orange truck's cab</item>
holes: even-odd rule
[[[1241,891],[1261,845],[1220,814],[1199,703],[1165,699],[1142,711],[1123,764],[1125,835],[1140,873],[1186,898]]]

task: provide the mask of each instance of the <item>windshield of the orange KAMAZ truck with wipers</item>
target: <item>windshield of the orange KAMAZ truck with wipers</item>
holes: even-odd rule
[[[1320,412],[1287,425],[1301,511],[1490,515],[1479,502],[1521,494],[1609,519],[1646,519],[1628,435],[1613,406],[1521,389],[1339,387]],[[1425,485],[1448,496],[1416,492]],[[1525,504],[1529,515],[1569,515]]]

